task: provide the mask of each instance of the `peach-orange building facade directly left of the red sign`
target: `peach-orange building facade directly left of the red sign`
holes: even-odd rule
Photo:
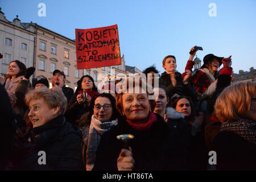
[[[47,78],[51,86],[52,73],[59,69],[65,73],[65,85],[74,89],[80,77],[76,73],[75,42],[38,24],[35,28],[35,77]]]

